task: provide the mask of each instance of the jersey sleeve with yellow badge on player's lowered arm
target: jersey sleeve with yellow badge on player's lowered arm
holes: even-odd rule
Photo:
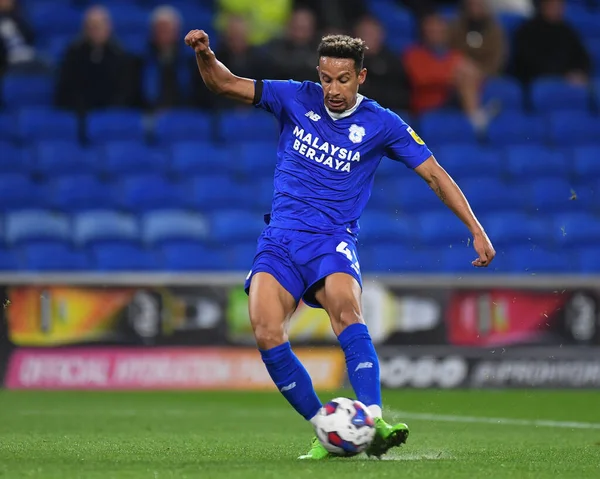
[[[432,154],[425,142],[396,113],[387,110],[385,155],[415,169]]]

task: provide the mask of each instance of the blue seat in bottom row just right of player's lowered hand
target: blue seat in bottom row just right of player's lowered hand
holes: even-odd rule
[[[506,251],[511,271],[519,274],[565,274],[578,268],[575,255],[532,246],[516,246]]]

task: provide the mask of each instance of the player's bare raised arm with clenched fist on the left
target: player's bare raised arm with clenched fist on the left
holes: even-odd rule
[[[254,80],[234,75],[223,65],[210,49],[208,35],[203,30],[192,30],[185,36],[185,43],[196,52],[198,70],[207,88],[233,100],[252,103]]]

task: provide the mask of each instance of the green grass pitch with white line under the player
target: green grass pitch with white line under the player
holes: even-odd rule
[[[2,391],[0,477],[600,477],[600,392],[385,391],[384,408],[411,426],[385,460],[301,462],[311,429],[274,393]]]

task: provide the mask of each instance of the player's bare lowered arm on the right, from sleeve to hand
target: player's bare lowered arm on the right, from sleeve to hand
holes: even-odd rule
[[[473,247],[479,255],[479,258],[473,261],[473,265],[488,266],[496,256],[496,251],[458,185],[433,156],[417,166],[415,171],[469,228],[473,235]]]

